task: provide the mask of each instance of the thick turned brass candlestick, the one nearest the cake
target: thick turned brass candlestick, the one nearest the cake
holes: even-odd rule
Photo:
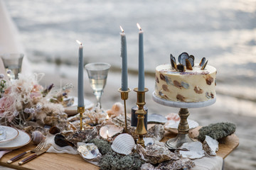
[[[135,88],[134,91],[137,92],[137,106],[138,110],[135,112],[137,114],[138,122],[137,122],[137,128],[135,130],[135,133],[139,135],[138,144],[144,146],[144,140],[143,135],[146,134],[146,128],[144,125],[144,115],[146,115],[146,111],[144,110],[145,102],[145,93],[146,91],[149,91],[149,89],[144,89],[144,91],[139,91],[138,88]]]

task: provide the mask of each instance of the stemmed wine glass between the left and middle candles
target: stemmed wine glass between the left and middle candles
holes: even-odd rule
[[[85,65],[85,69],[90,79],[90,86],[92,87],[93,94],[97,98],[97,107],[100,108],[100,98],[107,82],[107,73],[110,67],[110,64],[104,62],[94,62]]]

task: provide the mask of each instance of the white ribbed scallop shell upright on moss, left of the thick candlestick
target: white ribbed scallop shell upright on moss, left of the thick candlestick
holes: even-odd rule
[[[132,153],[132,149],[134,149],[135,142],[131,135],[127,133],[123,133],[121,135],[118,135],[114,142],[111,145],[111,148],[114,152],[117,152],[119,154],[130,154]]]

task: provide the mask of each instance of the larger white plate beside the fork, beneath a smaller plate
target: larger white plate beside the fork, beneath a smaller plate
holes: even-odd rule
[[[26,132],[18,130],[18,137],[10,142],[1,143],[0,149],[18,149],[28,145],[29,142],[31,142],[31,137]]]

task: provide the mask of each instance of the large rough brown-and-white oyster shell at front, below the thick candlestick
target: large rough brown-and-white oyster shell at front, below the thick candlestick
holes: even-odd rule
[[[178,154],[169,151],[167,147],[155,144],[147,146],[146,149],[142,145],[137,145],[137,151],[145,162],[150,162],[151,164],[179,159]]]

